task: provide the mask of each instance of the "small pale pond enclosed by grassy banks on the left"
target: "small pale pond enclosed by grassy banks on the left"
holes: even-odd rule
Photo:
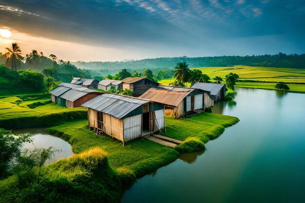
[[[32,129],[18,129],[15,130],[16,134],[22,134],[22,133],[31,133],[33,136],[31,139],[33,140],[32,143],[25,143],[22,147],[23,149],[32,149],[32,148],[49,148],[53,147],[54,149],[57,149],[58,152],[54,153],[54,156],[46,161],[47,164],[51,164],[53,162],[56,162],[58,159],[66,158],[71,155],[73,155],[73,151],[71,148],[71,145],[52,135],[49,135],[45,132],[45,129],[39,129],[39,128],[32,128]]]

